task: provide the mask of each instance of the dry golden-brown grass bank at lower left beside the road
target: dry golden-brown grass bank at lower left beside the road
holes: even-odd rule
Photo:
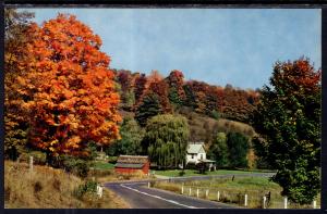
[[[62,169],[4,162],[4,207],[8,209],[124,209],[129,205],[117,194],[104,189],[101,199],[94,192],[76,192],[86,184]]]

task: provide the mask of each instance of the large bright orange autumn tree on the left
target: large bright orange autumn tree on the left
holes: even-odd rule
[[[73,15],[59,14],[32,25],[20,93],[32,98],[27,112],[29,143],[48,154],[86,155],[89,141],[119,138],[120,98],[101,39]]]

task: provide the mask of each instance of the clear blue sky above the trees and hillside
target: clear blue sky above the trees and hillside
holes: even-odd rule
[[[319,9],[28,9],[41,24],[75,14],[102,39],[110,67],[172,70],[185,79],[240,88],[268,84],[276,61],[322,65]]]

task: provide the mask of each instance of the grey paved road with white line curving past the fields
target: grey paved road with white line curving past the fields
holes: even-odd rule
[[[274,174],[251,174],[251,176],[271,176]],[[214,177],[230,177],[232,175],[220,175]],[[249,175],[235,175],[235,177]],[[170,178],[170,180],[209,179],[213,176]],[[147,188],[147,180],[107,182],[105,187],[111,189],[122,197],[132,209],[238,209],[238,206],[181,196],[173,192]]]

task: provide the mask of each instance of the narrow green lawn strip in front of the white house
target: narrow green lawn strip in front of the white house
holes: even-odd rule
[[[168,177],[179,177],[181,176],[181,169],[171,169],[171,171],[152,171],[155,175],[162,175]],[[202,175],[229,175],[229,174],[252,174],[258,173],[257,171],[229,171],[229,169],[218,169],[214,172],[206,172],[206,174],[199,174],[196,169],[185,169],[184,176],[202,176]]]

